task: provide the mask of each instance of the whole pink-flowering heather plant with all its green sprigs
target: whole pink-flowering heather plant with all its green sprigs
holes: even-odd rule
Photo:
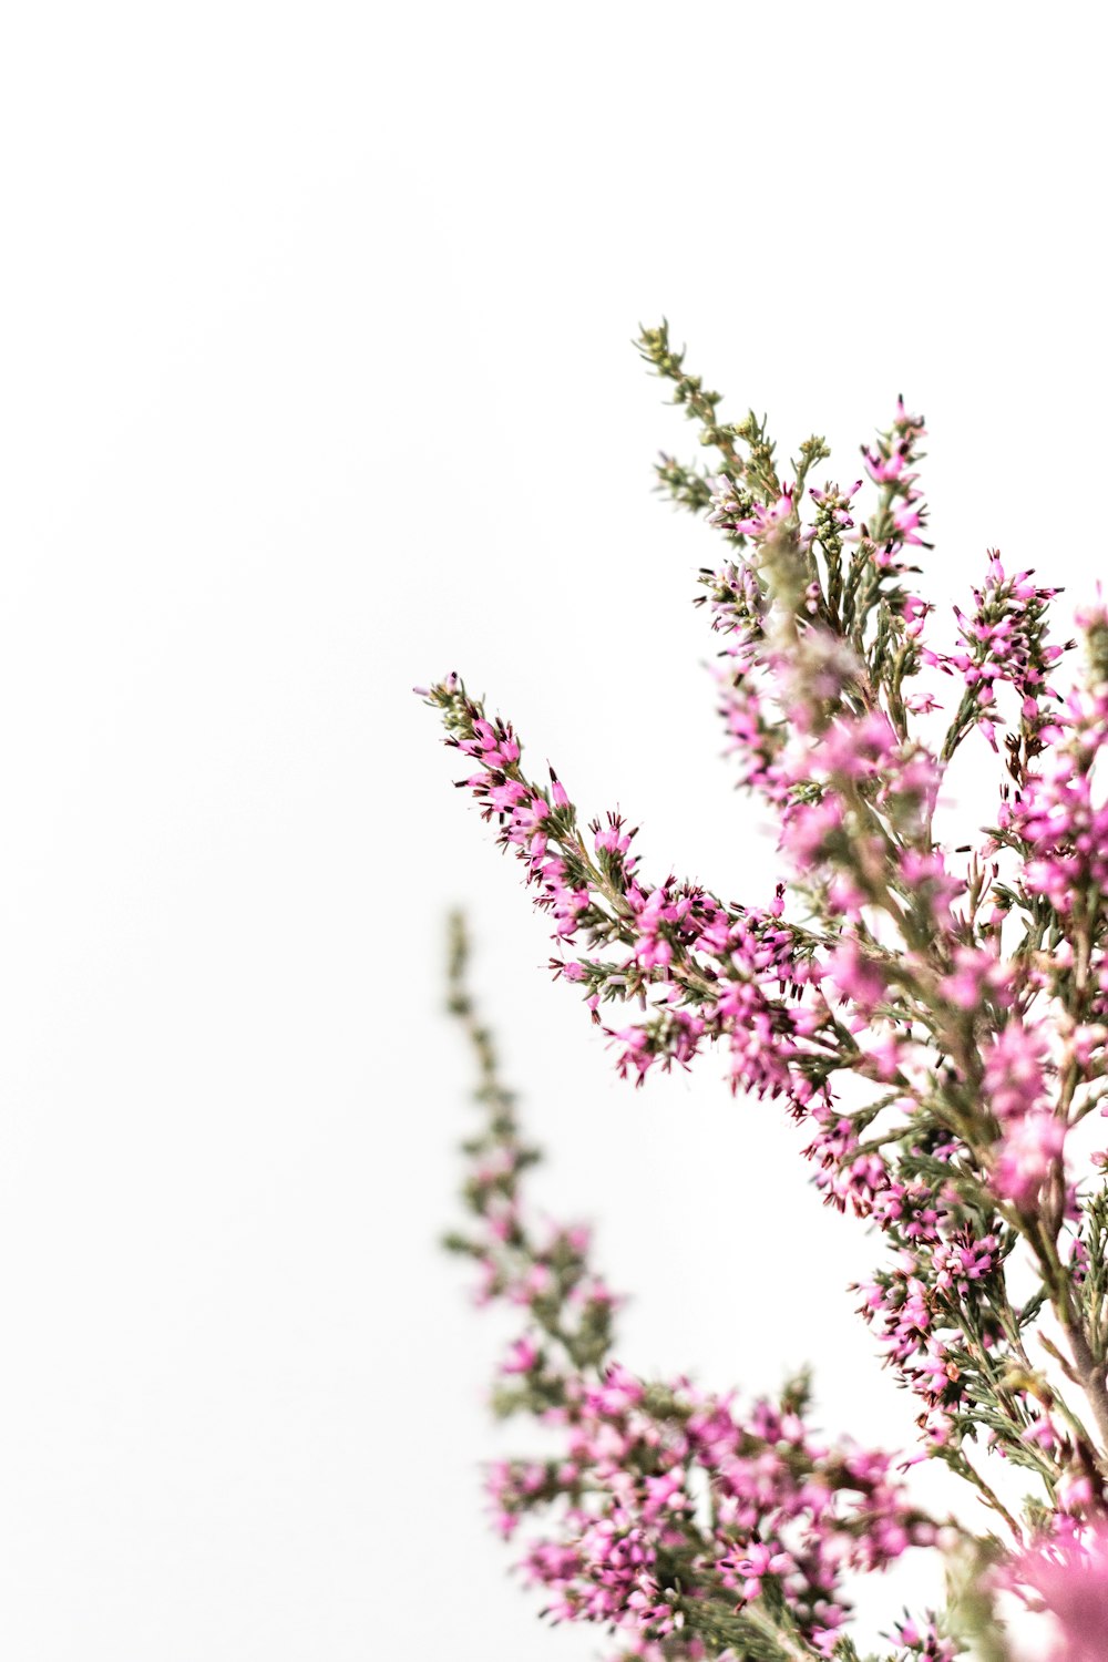
[[[656,472],[718,538],[698,603],[738,783],[779,824],[774,892],[651,878],[623,816],[586,821],[553,770],[535,779],[457,675],[425,696],[620,1074],[718,1052],[733,1092],[804,1125],[827,1203],[867,1220],[859,1315],[919,1448],[819,1434],[806,1379],[744,1403],[618,1361],[586,1233],[532,1217],[537,1153],[458,926],[485,1122],[452,1245],[522,1315],[497,1411],[558,1438],[495,1466],[497,1524],[547,1614],[610,1629],[618,1659],[859,1659],[851,1582],[912,1552],[944,1556],[947,1605],[892,1612],[882,1662],[1000,1662],[1040,1630],[1053,1657],[1106,1657],[1108,610],[1078,613],[1078,658],[1050,632],[1057,588],[990,550],[944,637],[917,563],[922,419],[899,401],[862,477],[816,487],[822,439],[781,474],[766,422],[724,422],[664,324],[638,344],[713,452]],[[992,823],[949,834],[939,793],[968,745],[993,758]],[[929,1516],[920,1458],[980,1506]]]

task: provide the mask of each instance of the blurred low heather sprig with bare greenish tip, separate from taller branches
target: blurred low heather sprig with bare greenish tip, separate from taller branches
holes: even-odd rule
[[[887,1454],[811,1428],[806,1379],[741,1406],[734,1393],[645,1381],[615,1360],[620,1300],[591,1266],[588,1230],[540,1225],[527,1205],[537,1150],[522,1140],[465,959],[455,917],[449,1007],[473,1050],[483,1124],[463,1143],[468,1225],[447,1245],[478,1265],[482,1303],[523,1318],[495,1411],[558,1438],[555,1453],[488,1474],[495,1524],[525,1537],[520,1567],[545,1592],[543,1614],[610,1629],[625,1662],[857,1657],[846,1581],[934,1546],[940,1526]],[[945,1526],[944,1539],[958,1537]],[[897,1659],[962,1652],[934,1615],[905,1615],[890,1640]]]

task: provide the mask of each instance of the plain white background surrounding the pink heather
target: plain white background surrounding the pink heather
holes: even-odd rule
[[[930,592],[1103,563],[1091,8],[50,5],[0,50],[8,1662],[591,1657],[487,1537],[502,1338],[434,1246],[463,902],[543,1198],[641,1371],[907,1444],[872,1260],[709,1059],[631,1094],[410,685],[458,668],[646,869],[761,901],[630,337],[856,474],[925,412]],[[887,1614],[892,1614],[887,1610]]]

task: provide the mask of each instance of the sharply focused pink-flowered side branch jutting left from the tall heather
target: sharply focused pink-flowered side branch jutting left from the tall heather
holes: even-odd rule
[[[646,1020],[610,1029],[620,1072],[641,1080],[655,1064],[686,1065],[708,1040],[724,1040],[733,1089],[802,1109],[836,1065],[837,1022],[812,969],[816,937],[782,921],[782,891],[769,907],[746,909],[673,876],[648,883],[620,814],[593,821],[590,846],[556,774],[538,786],[522,773],[510,726],[490,723],[457,676],[430,696],[449,743],[482,761],[463,783],[500,819],[502,846],[523,861],[555,937],[623,949],[615,964],[560,957],[555,972],[585,986],[596,1017],[605,1002],[653,991]]]

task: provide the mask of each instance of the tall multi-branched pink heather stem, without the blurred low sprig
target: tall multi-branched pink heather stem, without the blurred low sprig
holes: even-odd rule
[[[555,917],[556,974],[601,1024],[640,1006],[605,1029],[620,1072],[641,1082],[721,1045],[734,1090],[809,1122],[826,1200],[884,1237],[862,1315],[920,1399],[927,1449],[1017,1541],[1080,1542],[1108,1517],[1108,1153],[1075,1135],[1108,1102],[1108,613],[1078,615],[1086,665],[1060,688],[1073,642],[1050,637],[1057,590],[990,550],[957,640],[930,642],[910,563],[929,547],[922,419],[899,401],[862,447],[869,509],[862,480],[827,482],[806,520],[824,440],[782,480],[766,422],[723,424],[664,324],[640,344],[719,457],[704,475],[666,459],[659,477],[728,543],[703,598],[739,783],[781,823],[772,901],[651,883],[636,833],[610,814],[586,843],[560,781],[527,778],[512,728],[457,676],[429,701]],[[975,736],[1003,738],[997,823],[952,848],[935,804]],[[580,946],[615,956],[568,954]],[[1020,1296],[1017,1261],[1035,1275]],[[1033,1479],[1018,1516],[980,1454]]]

